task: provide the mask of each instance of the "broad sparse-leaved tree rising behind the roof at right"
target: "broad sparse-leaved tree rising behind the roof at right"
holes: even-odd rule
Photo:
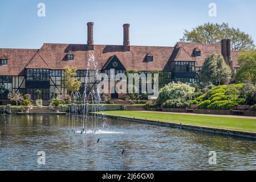
[[[242,32],[239,28],[229,27],[228,23],[214,24],[208,22],[193,28],[192,31],[185,30],[180,41],[220,43],[222,39],[231,39],[231,49],[234,51],[255,48],[254,41],[249,34]]]

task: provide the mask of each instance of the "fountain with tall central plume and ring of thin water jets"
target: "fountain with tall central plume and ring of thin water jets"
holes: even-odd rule
[[[97,69],[97,61],[94,55],[90,55],[87,63],[87,70],[85,76],[85,86],[83,95],[80,92],[71,93],[71,102],[69,107],[68,118],[68,133],[70,129],[72,133],[97,133],[99,131],[99,125],[104,124],[104,115],[96,114],[95,112],[103,111],[104,106],[101,104],[101,96],[99,89],[90,90],[90,84],[88,84],[88,78],[90,76],[90,69],[95,72],[95,80],[99,77],[99,70]],[[91,102],[91,104],[90,104]],[[92,112],[90,114],[90,112]],[[89,117],[91,115],[91,117]],[[81,123],[81,129],[76,129],[76,123]]]

